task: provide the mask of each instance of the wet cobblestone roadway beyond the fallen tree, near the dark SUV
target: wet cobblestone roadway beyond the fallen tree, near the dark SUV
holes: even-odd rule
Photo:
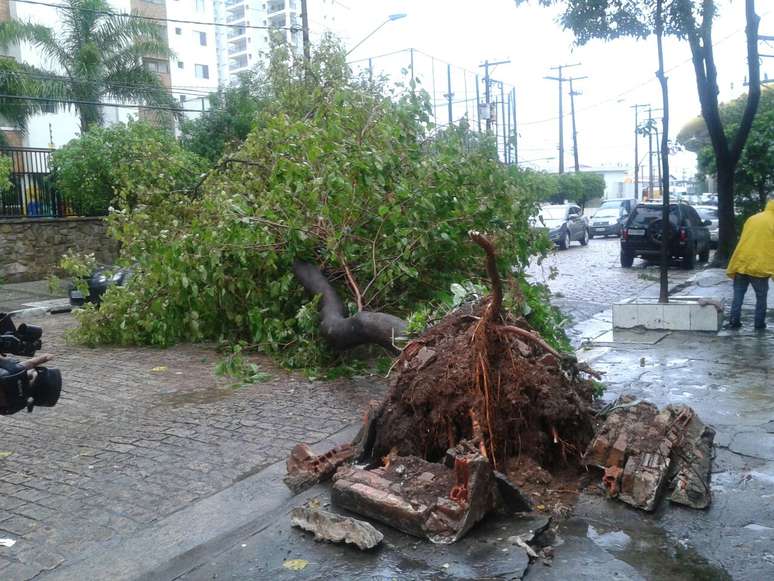
[[[551,289],[551,302],[580,322],[636,295],[658,296],[658,265],[636,259],[633,268],[621,268],[618,238],[594,238],[588,246],[573,243],[557,250],[529,269],[533,280]],[[551,279],[553,272],[559,275]],[[685,282],[694,271],[677,265],[669,269],[670,288]]]

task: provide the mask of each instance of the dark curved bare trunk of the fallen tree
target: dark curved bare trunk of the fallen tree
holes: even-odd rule
[[[320,302],[320,333],[337,351],[357,345],[375,344],[399,353],[395,338],[406,329],[403,319],[386,313],[361,311],[347,317],[344,303],[320,269],[308,262],[293,263],[293,274],[304,290],[312,295],[322,295]]]

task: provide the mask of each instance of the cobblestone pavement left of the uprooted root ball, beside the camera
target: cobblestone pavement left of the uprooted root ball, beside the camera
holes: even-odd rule
[[[64,377],[54,408],[0,418],[0,579],[28,579],[132,535],[355,421],[378,380],[274,378],[230,387],[213,349],[65,345],[70,315],[44,326]]]

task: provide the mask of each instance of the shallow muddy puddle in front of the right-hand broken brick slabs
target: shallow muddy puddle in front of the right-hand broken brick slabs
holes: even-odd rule
[[[562,528],[564,535],[587,537],[616,559],[634,567],[646,579],[659,581],[731,579],[731,575],[724,569],[707,561],[688,543],[671,539],[662,529],[648,526],[645,522],[638,522],[636,528],[627,528],[571,519]]]

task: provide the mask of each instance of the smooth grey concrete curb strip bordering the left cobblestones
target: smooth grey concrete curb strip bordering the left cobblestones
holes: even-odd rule
[[[351,440],[360,424],[352,424],[313,446],[322,451]],[[282,482],[285,461],[240,480],[191,506],[179,510],[134,537],[97,545],[76,561],[41,574],[46,580],[84,579],[169,580],[195,569],[239,538],[260,532],[289,504],[317,494],[312,488],[294,496]]]

